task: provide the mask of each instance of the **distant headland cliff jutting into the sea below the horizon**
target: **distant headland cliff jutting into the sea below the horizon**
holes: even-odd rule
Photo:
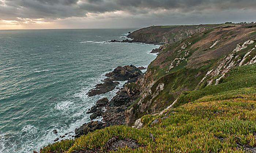
[[[135,42],[149,44],[175,43],[198,32],[203,32],[221,25],[191,25],[191,26],[151,26],[142,28],[128,35]]]

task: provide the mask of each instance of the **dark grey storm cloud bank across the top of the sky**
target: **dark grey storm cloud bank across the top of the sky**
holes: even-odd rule
[[[256,9],[256,0],[0,0],[0,19],[63,19],[112,11],[143,15],[163,9],[176,13],[239,11]]]

